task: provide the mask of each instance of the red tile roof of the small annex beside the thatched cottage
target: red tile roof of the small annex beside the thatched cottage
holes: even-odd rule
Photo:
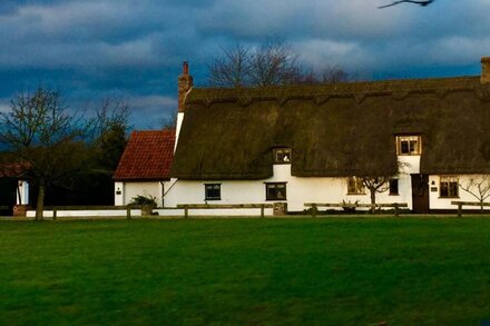
[[[114,179],[169,179],[174,144],[175,130],[133,131]]]

